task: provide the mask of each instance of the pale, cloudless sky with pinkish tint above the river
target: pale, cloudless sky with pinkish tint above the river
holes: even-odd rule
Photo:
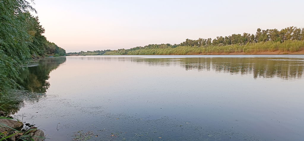
[[[303,0],[35,0],[47,40],[66,52],[179,44],[304,27]]]

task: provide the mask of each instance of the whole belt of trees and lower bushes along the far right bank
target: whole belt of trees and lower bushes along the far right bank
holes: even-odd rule
[[[237,55],[304,54],[304,28],[257,29],[256,34],[217,36],[216,39],[189,40],[171,45],[149,44],[130,49],[96,50],[67,55]]]

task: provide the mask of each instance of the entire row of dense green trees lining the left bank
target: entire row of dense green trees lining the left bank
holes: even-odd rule
[[[41,34],[44,28],[26,0],[0,0],[0,94],[20,87],[19,70],[33,57],[45,54],[65,55],[65,50],[50,43]]]

